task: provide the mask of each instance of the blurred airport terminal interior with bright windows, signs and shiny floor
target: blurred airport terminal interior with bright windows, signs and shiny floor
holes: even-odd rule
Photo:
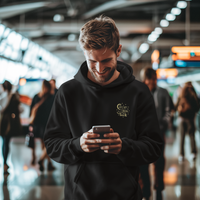
[[[100,15],[111,17],[120,33],[118,58],[142,81],[143,70],[156,70],[157,84],[174,105],[184,83],[191,82],[200,102],[200,0],[0,0],[0,84],[8,80],[20,97],[22,134],[9,142],[8,173],[4,173],[0,137],[0,200],[63,200],[64,166],[40,170],[41,140],[25,145],[30,105],[43,80],[56,87],[72,79],[85,61],[78,38],[81,27]],[[0,87],[0,102],[3,89]],[[180,157],[180,117],[165,134],[163,200],[200,200],[200,111],[195,116],[196,158],[185,136]],[[156,200],[154,165],[150,164],[151,197]],[[141,187],[142,187],[142,183]],[[125,191],[124,191],[125,192]]]

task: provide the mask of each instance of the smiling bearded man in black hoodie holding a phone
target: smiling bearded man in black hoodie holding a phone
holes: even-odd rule
[[[79,43],[86,62],[59,88],[44,136],[49,156],[65,164],[65,199],[141,200],[139,165],[157,160],[163,144],[153,97],[117,61],[112,19],[87,22]],[[100,139],[94,125],[112,129]]]

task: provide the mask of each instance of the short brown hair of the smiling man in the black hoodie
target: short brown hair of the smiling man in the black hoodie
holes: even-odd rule
[[[107,47],[116,52],[119,47],[119,31],[114,20],[101,15],[84,24],[80,30],[79,44],[83,50]]]

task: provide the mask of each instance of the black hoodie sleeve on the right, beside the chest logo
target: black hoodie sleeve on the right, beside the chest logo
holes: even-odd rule
[[[136,112],[137,140],[121,138],[122,150],[118,154],[119,159],[125,165],[131,166],[156,161],[163,148],[163,137],[159,129],[153,96],[143,94],[139,98]]]

